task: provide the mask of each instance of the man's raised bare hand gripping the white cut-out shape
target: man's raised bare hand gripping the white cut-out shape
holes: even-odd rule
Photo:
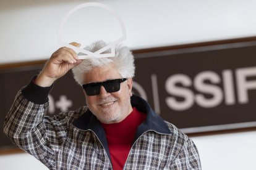
[[[80,47],[76,42],[70,43],[73,46]],[[45,67],[35,79],[35,84],[41,87],[49,87],[56,79],[64,76],[67,71],[79,65],[82,60],[79,60],[77,54],[68,47],[61,47],[51,55],[51,58],[46,62]]]

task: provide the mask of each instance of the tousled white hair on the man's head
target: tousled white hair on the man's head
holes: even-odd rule
[[[104,41],[93,42],[90,46],[85,47],[87,51],[95,52],[106,46]],[[106,51],[103,53],[109,53]],[[103,57],[96,58],[91,57],[90,59],[83,60],[77,67],[72,69],[74,79],[78,84],[82,85],[84,82],[85,73],[90,72],[95,67],[101,67],[103,65],[114,64],[114,67],[119,71],[122,78],[133,78],[135,72],[134,66],[134,55],[130,49],[126,46],[116,46],[114,57]],[[80,54],[79,54],[80,55]]]

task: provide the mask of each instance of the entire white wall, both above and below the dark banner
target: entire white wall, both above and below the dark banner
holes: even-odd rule
[[[1,0],[0,64],[48,59],[59,47],[57,34],[62,18],[81,2],[87,1]],[[124,20],[127,29],[124,44],[132,49],[256,36],[254,0],[101,2],[115,9]],[[95,17],[99,16],[92,16]],[[95,35],[93,21],[88,20],[91,23],[86,31],[80,28],[72,35]],[[116,36],[116,31],[111,31],[112,25],[106,26],[110,26],[109,35]],[[203,169],[255,169],[256,131],[193,139]],[[27,153],[2,155],[0,164],[1,169],[46,169]]]

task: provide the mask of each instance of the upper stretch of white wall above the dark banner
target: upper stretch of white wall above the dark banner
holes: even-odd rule
[[[72,7],[85,1],[14,2],[1,0],[0,63],[48,59],[59,47],[57,34],[62,18]],[[101,2],[115,9],[124,20],[127,29],[124,44],[132,49],[256,34],[254,0]],[[96,14],[92,16],[95,17]],[[70,34],[96,36],[95,28],[90,24],[86,29],[77,28],[74,34]],[[105,28],[111,30],[114,27],[106,25]],[[116,35],[114,31],[109,34]]]

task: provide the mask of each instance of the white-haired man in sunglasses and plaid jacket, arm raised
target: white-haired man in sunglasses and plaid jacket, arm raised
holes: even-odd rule
[[[99,41],[87,50],[104,46]],[[45,116],[54,81],[70,69],[87,107]],[[201,169],[194,142],[132,95],[134,70],[127,47],[116,47],[115,57],[87,60],[62,47],[18,92],[4,133],[49,169]]]

